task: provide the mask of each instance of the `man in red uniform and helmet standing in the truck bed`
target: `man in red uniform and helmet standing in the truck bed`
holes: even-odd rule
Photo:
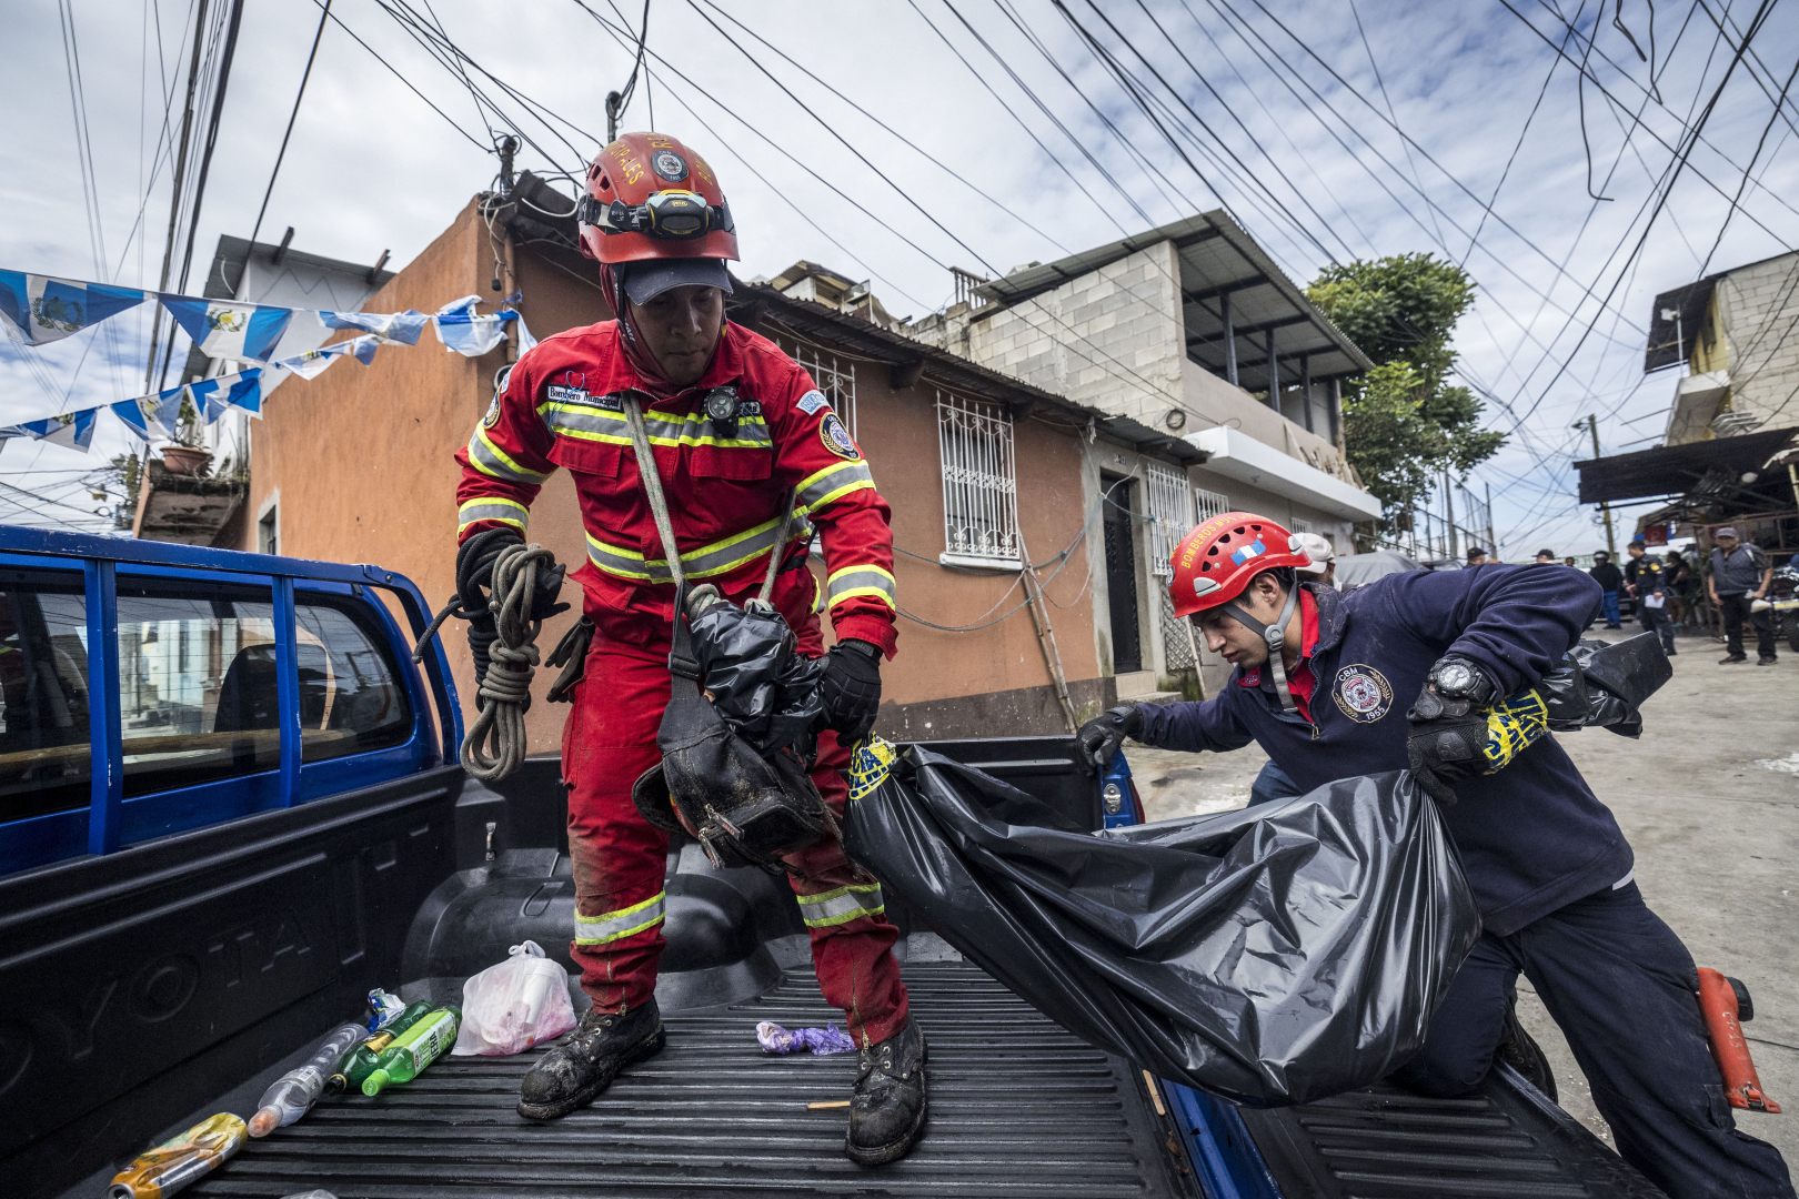
[[[761,586],[768,555],[779,555],[774,604],[810,656],[824,653],[817,609],[829,609],[828,732],[811,777],[837,814],[838,769],[874,723],[878,663],[894,653],[887,502],[811,377],[772,342],[725,322],[723,259],[738,257],[738,241],[711,167],[675,138],[624,135],[588,169],[577,219],[619,318],[527,351],[457,453],[459,541],[493,528],[522,539],[531,502],[558,466],[574,476],[586,530],[588,561],[574,577],[594,642],[563,730],[563,775],[572,953],[594,1008],[525,1075],[518,1111],[538,1120],[581,1107],[664,1044],[655,983],[669,839],[631,805],[631,784],[658,760],[675,588],[621,397],[642,404],[685,577],[741,602]],[[804,520],[775,545],[790,493]],[[806,570],[813,536],[826,561],[822,597]],[[862,1165],[892,1161],[917,1140],[926,1098],[925,1039],[892,955],[898,929],[882,915],[880,884],[835,838],[786,861],[819,985],[858,1046],[846,1152]]]

